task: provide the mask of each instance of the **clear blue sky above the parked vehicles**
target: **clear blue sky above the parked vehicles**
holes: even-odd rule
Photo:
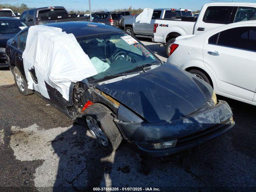
[[[0,0],[0,3],[27,4],[29,7],[64,6],[67,10],[88,10],[88,0]],[[91,0],[92,10],[114,10],[116,8],[186,8],[201,9],[210,2],[232,2],[232,0]],[[234,2],[256,2],[256,0],[234,0]]]

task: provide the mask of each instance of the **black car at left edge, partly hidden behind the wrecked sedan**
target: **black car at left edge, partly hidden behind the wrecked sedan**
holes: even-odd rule
[[[8,67],[5,55],[6,42],[13,38],[26,24],[17,18],[0,17],[0,68]]]

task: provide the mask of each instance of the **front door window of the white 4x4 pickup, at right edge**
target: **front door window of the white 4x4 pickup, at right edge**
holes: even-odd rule
[[[239,7],[234,22],[256,20],[256,8]]]

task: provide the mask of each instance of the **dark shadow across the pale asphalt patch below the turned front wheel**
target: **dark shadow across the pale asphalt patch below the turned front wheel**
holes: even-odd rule
[[[93,191],[100,186],[112,163],[111,153],[100,147],[84,126],[74,125],[51,143],[59,164],[53,191]]]

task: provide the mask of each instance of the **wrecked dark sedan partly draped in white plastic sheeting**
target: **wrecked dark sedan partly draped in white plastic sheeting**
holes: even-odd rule
[[[47,26],[73,34],[97,74],[70,82],[68,94],[47,80],[37,89],[43,77],[40,70],[24,67],[22,60],[26,28],[6,47],[18,90],[23,95],[35,92],[42,96],[86,126],[103,147],[116,150],[126,140],[141,152],[165,156],[192,148],[234,126],[229,105],[217,100],[209,84],[161,62],[122,30],[91,22]]]

